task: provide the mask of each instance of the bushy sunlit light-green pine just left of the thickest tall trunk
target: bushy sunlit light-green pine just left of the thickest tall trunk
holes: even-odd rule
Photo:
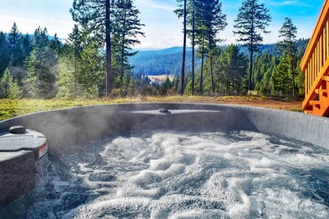
[[[62,49],[56,83],[58,97],[94,99],[103,95],[105,68],[103,54],[88,29],[77,25]]]

